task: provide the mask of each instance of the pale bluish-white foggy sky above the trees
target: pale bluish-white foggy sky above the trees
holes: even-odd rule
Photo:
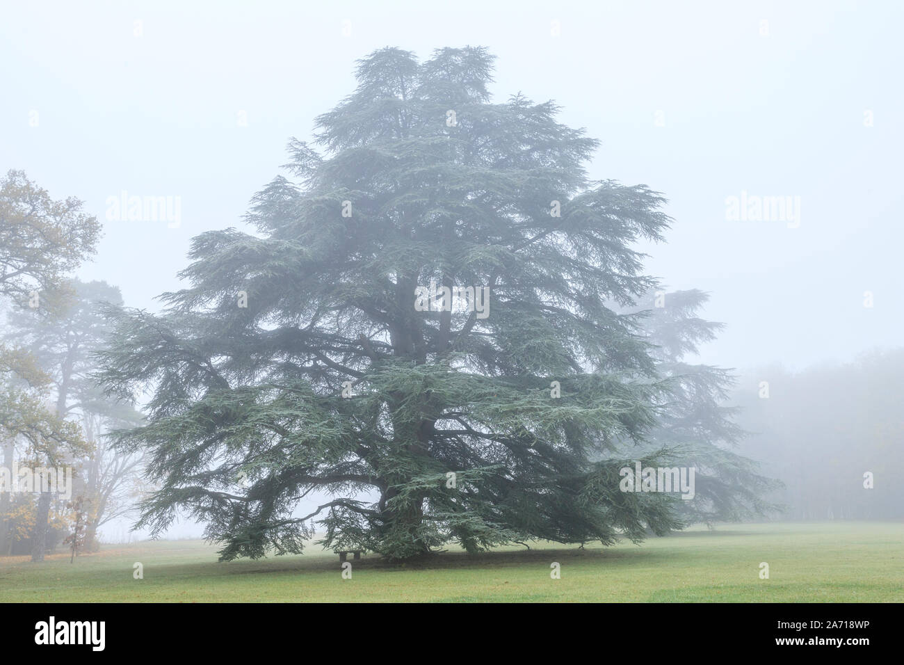
[[[179,228],[105,221],[96,260],[79,271],[156,309],[155,295],[179,288],[192,236],[243,227],[288,139],[309,139],[315,116],[353,90],[355,60],[383,46],[426,58],[483,45],[498,58],[495,100],[519,90],[556,100],[563,122],[603,142],[591,177],[669,199],[673,229],[647,270],[673,289],[711,292],[704,316],[727,328],[702,361],[844,361],[900,344],[902,7],[10,3],[0,167],[78,196],[101,220],[123,190],[180,196]],[[799,196],[799,228],[728,221],[725,200],[742,191]]]

